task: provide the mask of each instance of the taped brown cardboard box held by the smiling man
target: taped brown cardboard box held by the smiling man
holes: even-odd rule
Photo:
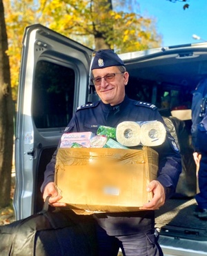
[[[147,184],[156,179],[158,154],[118,148],[59,148],[55,182],[65,202],[79,214],[139,210],[152,199]]]

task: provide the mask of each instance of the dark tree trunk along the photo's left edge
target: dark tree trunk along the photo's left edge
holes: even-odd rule
[[[7,50],[8,39],[3,0],[0,0],[0,207],[10,204],[14,133],[10,65],[6,54]]]

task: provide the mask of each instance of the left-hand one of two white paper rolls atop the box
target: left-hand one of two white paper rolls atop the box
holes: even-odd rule
[[[138,146],[140,141],[140,126],[135,121],[123,121],[117,126],[117,141],[128,147]]]

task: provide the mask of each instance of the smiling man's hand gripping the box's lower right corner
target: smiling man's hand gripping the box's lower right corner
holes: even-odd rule
[[[166,200],[164,186],[162,186],[159,181],[153,180],[148,184],[148,192],[153,193],[152,200],[140,207],[140,210],[157,210],[160,206],[163,206]]]

